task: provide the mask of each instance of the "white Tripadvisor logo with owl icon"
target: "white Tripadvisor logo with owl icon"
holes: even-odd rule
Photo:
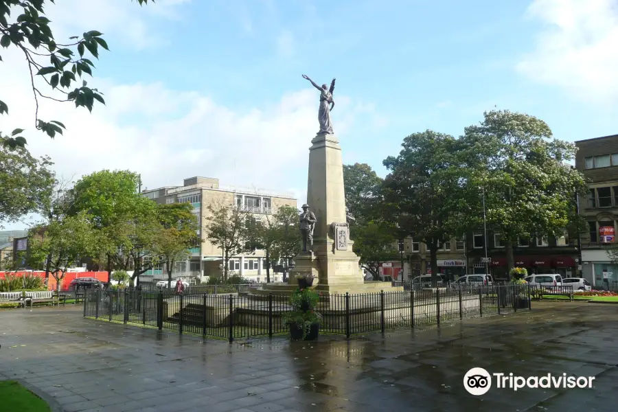
[[[531,389],[574,389],[593,387],[594,376],[567,376],[547,374],[543,376],[516,376],[512,373],[494,373],[490,374],[482,367],[473,367],[464,376],[464,388],[468,393],[474,396],[480,396],[487,393],[492,388],[492,381],[495,383],[496,389],[512,389],[517,391],[522,388]]]

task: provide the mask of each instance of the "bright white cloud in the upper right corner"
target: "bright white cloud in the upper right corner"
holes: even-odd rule
[[[545,23],[535,49],[516,69],[579,100],[618,103],[618,3],[534,0],[527,10]]]

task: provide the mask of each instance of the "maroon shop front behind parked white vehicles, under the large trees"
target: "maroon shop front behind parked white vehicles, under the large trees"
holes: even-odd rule
[[[539,273],[557,273],[562,277],[575,275],[577,263],[572,256],[545,255],[545,256],[515,256],[515,267],[525,268],[529,275]],[[507,259],[505,257],[492,258],[490,274],[494,279],[508,279]]]

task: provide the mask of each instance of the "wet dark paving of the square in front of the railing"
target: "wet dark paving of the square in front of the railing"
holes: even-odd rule
[[[534,302],[534,310],[440,328],[235,342],[82,318],[80,306],[0,311],[0,379],[62,409],[141,412],[612,411],[618,305]],[[595,376],[592,389],[496,389],[466,371]]]

